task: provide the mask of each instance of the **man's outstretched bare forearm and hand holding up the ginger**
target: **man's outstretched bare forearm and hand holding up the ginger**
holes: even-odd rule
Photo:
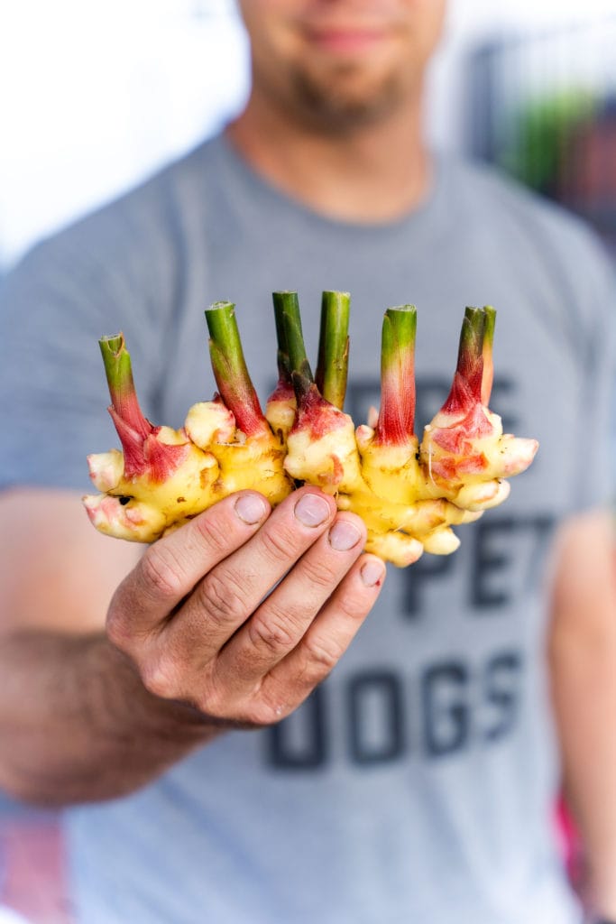
[[[74,493],[24,489],[0,496],[3,535],[0,785],[42,805],[123,796],[225,728],[283,718],[385,571],[314,488],[272,513],[235,494],[145,553]]]

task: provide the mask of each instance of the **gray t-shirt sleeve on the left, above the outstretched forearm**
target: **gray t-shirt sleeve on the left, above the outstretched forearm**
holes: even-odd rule
[[[98,339],[123,330],[148,414],[168,295],[162,260],[120,208],[37,245],[0,286],[0,488],[90,491],[86,456],[118,446]],[[160,331],[159,331],[160,335]]]

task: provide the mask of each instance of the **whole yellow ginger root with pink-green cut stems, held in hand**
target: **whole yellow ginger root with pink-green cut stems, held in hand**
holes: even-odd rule
[[[234,306],[206,311],[211,365],[219,394],[190,407],[184,427],[155,427],[135,395],[122,334],[101,340],[123,452],[89,456],[101,494],[84,504],[97,529],[151,542],[231,492],[250,488],[279,504],[308,482],[332,494],[340,510],[362,517],[366,549],[394,565],[424,551],[452,553],[452,526],[500,504],[506,480],[530,465],[535,440],[503,434],[489,410],[494,310],[467,309],[452,390],[426,426],[414,431],[416,310],[385,312],[381,404],[355,429],[344,413],[348,293],[324,292],[316,376],[304,346],[295,292],[274,293],[278,383],[266,417],[250,382]]]

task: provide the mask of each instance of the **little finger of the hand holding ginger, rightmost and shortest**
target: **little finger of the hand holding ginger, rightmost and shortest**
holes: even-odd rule
[[[282,718],[330,674],[376,602],[384,579],[385,565],[376,555],[363,554],[356,561],[301,642],[263,679],[263,709]]]

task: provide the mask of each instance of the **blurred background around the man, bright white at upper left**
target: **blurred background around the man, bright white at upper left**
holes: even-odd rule
[[[615,47],[616,0],[450,0],[427,128],[583,215],[616,261]],[[233,0],[1,4],[0,280],[35,240],[220,128],[248,69]],[[0,794],[3,903],[70,921],[54,815]]]

